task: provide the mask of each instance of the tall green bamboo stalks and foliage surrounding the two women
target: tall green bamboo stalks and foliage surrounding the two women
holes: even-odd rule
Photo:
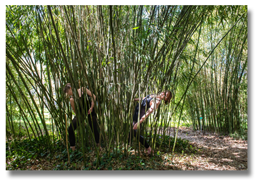
[[[96,95],[107,153],[126,153],[134,98],[164,90],[170,105],[138,128],[153,149],[186,123],[247,130],[247,6],[6,6],[5,53],[8,143],[25,136],[39,150],[53,151],[56,138],[66,145],[69,82]],[[95,146],[87,125],[76,137],[84,157]]]

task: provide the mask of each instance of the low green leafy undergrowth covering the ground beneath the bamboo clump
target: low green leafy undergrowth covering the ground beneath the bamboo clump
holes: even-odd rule
[[[86,147],[85,161],[82,149],[69,149],[70,162],[66,146],[62,141],[55,139],[54,151],[39,149],[35,139],[22,139],[17,144],[17,153],[14,153],[14,143],[6,143],[6,170],[168,170],[171,163],[174,138],[166,136],[164,139],[157,135],[157,145],[153,155],[146,155],[146,151],[134,153],[134,147],[114,149],[106,153],[105,146],[97,162],[97,153],[94,147]],[[39,139],[43,139],[42,137]],[[170,148],[169,146],[170,141]],[[162,143],[162,144],[161,144]],[[159,148],[161,144],[161,148]],[[137,146],[138,149],[138,146]],[[185,139],[177,139],[175,153],[197,153],[195,148]],[[84,163],[85,162],[85,163]]]

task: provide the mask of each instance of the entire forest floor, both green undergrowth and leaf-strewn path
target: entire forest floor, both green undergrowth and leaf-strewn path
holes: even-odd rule
[[[173,131],[173,128],[168,129],[166,135],[173,137]],[[109,156],[103,147],[98,166],[94,147],[86,151],[84,165],[79,149],[70,151],[71,162],[67,163],[67,151],[63,143],[56,143],[53,155],[37,155],[32,153],[36,147],[27,141],[23,148],[27,151],[23,154],[25,156],[20,159],[11,155],[6,157],[6,170],[247,170],[247,141],[208,131],[194,131],[188,127],[179,128],[178,138],[175,151],[179,152],[175,152],[174,157],[172,147],[170,151],[166,147],[161,147],[160,150],[156,148],[154,155],[147,155],[143,149],[138,155],[130,147],[129,155],[126,156],[121,151],[118,155],[111,153]],[[190,150],[178,150],[182,143],[186,143]]]

